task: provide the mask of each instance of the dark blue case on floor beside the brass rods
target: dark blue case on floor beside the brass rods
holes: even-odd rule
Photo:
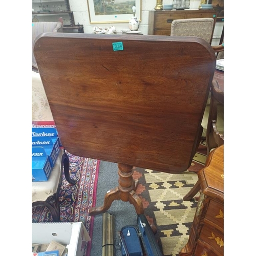
[[[163,256],[146,217],[139,214],[137,226],[124,226],[119,231],[121,256]]]

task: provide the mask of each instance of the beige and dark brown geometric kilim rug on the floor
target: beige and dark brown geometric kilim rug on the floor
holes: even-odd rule
[[[205,160],[206,143],[202,141],[191,166],[184,173],[167,174],[134,168],[133,177],[139,180],[136,194],[142,200],[147,220],[157,227],[155,237],[165,256],[177,256],[188,241],[197,201],[183,201],[183,197],[197,182],[196,173]]]

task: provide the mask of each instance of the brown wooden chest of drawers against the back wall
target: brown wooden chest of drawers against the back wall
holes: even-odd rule
[[[170,35],[170,26],[174,19],[214,18],[214,28],[217,20],[217,12],[214,10],[153,10],[148,15],[148,35]],[[213,33],[214,29],[212,35]]]

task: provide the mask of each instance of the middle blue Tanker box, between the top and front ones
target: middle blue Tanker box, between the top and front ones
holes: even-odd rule
[[[49,136],[32,136],[32,147],[35,146],[44,148],[47,156],[49,157],[51,166],[54,167],[59,154],[59,138],[52,138]]]

